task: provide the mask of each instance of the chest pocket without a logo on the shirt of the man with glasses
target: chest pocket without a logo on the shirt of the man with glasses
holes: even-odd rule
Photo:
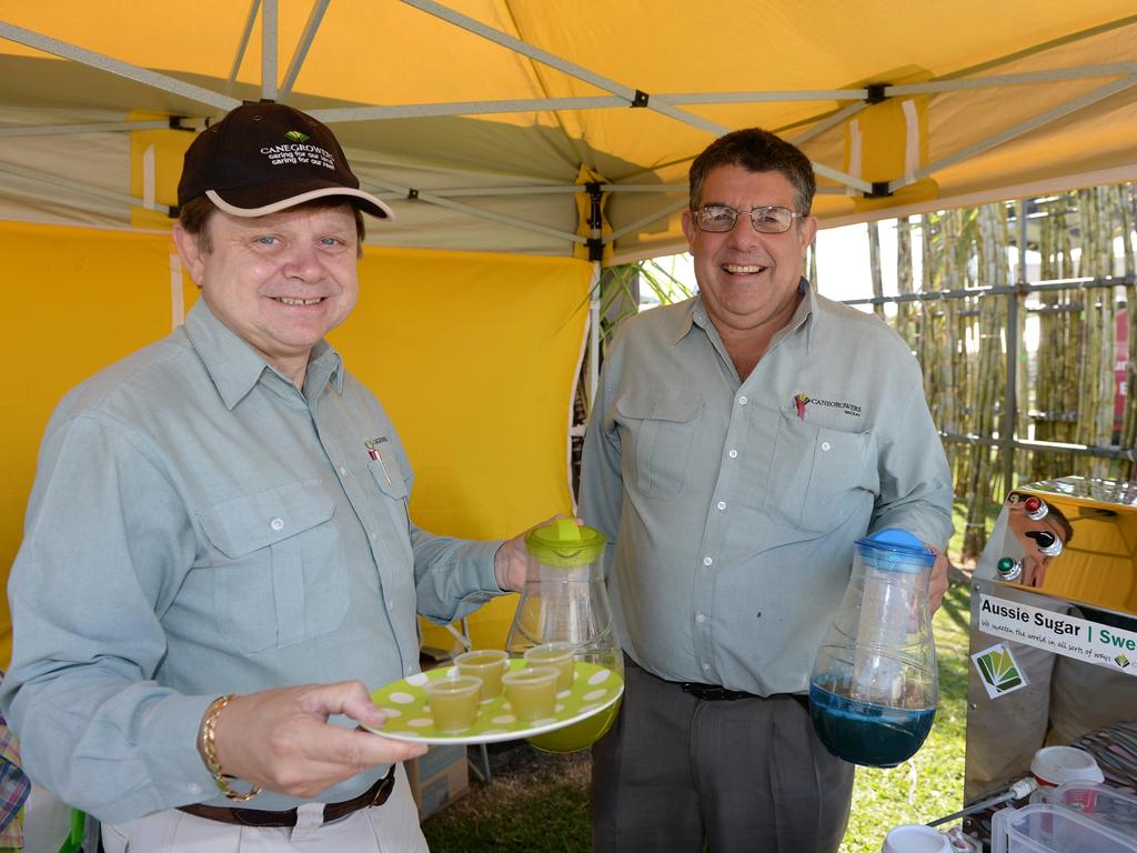
[[[663,389],[616,400],[624,447],[624,478],[647,497],[666,500],[683,486],[703,398]],[[631,454],[628,454],[629,446]],[[630,469],[630,470],[629,470]]]

